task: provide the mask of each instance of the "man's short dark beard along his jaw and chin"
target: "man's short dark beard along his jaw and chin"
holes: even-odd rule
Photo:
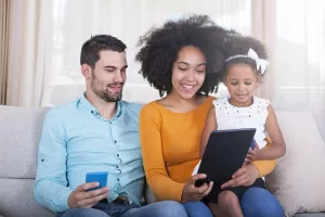
[[[113,82],[107,85],[106,88],[108,88],[109,86],[123,86],[122,82]],[[118,102],[121,100],[122,97],[122,89],[120,90],[120,92],[116,92],[116,93],[112,93],[109,92],[108,89],[102,89],[103,84],[101,81],[99,81],[98,77],[94,75],[94,71],[92,71],[91,73],[91,89],[92,91],[100,97],[102,100],[106,101],[106,102]]]

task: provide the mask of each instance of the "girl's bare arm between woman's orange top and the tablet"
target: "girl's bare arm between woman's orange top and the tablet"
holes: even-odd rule
[[[206,117],[206,124],[205,128],[203,130],[202,137],[200,137],[200,146],[199,146],[199,156],[200,158],[203,157],[210,133],[213,130],[217,130],[217,117],[216,117],[216,112],[214,112],[214,106],[211,106],[207,117]]]

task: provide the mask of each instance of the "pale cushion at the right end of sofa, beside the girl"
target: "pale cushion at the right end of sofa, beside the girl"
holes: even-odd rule
[[[310,113],[276,112],[287,153],[266,176],[287,216],[325,212],[325,144]]]

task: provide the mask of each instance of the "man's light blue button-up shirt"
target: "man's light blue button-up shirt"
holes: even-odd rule
[[[105,119],[84,95],[51,108],[38,153],[37,202],[53,212],[67,210],[68,195],[86,182],[87,173],[108,171],[108,202],[125,195],[141,204],[140,110],[139,104],[119,101],[114,118]]]

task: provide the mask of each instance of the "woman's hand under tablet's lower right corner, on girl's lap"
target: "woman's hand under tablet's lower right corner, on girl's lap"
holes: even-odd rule
[[[259,170],[253,164],[244,165],[232,177],[232,180],[221,186],[222,189],[233,187],[250,187],[259,178]]]

